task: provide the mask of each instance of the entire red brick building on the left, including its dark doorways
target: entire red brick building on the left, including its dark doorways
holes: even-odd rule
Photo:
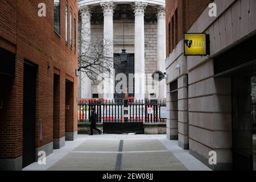
[[[46,17],[38,15],[40,2],[0,2],[0,169],[20,170],[38,151],[49,155],[77,135],[78,2],[60,1],[59,32],[53,0]],[[65,7],[73,47],[65,41]]]

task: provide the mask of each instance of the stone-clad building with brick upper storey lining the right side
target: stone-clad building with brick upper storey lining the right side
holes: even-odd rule
[[[217,5],[216,17],[209,16],[209,3]],[[255,169],[256,2],[177,0],[166,6],[167,138],[214,170]],[[209,34],[210,55],[184,56],[185,32]],[[217,164],[209,163],[210,151]]]

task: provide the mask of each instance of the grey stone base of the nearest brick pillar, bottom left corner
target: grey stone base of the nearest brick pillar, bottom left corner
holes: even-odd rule
[[[16,159],[0,159],[0,171],[22,171],[22,156]]]

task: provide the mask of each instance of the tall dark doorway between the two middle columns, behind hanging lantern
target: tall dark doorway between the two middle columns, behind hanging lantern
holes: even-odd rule
[[[119,54],[114,54],[115,60],[119,60]],[[114,69],[115,69],[115,77],[119,73],[124,73],[127,78],[127,90],[133,90],[133,93],[128,93],[128,97],[134,97],[134,78],[129,79],[129,74],[134,75],[134,54],[129,54],[127,61],[114,61]],[[120,82],[121,80],[115,80],[115,86]],[[125,88],[121,88],[125,89]],[[125,92],[125,91],[123,91]],[[115,90],[114,93],[114,99],[123,99],[125,98],[125,93],[117,93],[117,90]]]

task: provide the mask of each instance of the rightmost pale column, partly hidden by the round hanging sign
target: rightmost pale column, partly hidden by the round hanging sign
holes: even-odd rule
[[[158,70],[166,72],[166,8],[158,7]],[[160,100],[166,99],[166,79],[159,82],[159,97]]]

